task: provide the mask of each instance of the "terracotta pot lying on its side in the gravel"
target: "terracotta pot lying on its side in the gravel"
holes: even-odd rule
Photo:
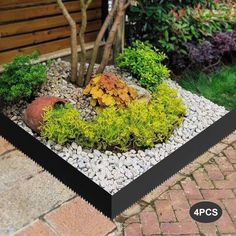
[[[23,120],[33,131],[39,133],[43,122],[44,109],[48,106],[67,103],[64,99],[43,96],[34,100],[25,110]]]

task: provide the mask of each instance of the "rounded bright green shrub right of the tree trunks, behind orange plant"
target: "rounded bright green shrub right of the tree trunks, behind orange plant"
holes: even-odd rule
[[[135,41],[118,56],[117,65],[137,76],[140,85],[153,91],[170,75],[168,68],[161,64],[165,59],[166,55],[151,44]]]

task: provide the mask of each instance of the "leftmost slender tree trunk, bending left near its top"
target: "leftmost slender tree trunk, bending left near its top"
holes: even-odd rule
[[[71,82],[76,83],[78,76],[78,53],[77,53],[77,28],[76,22],[70,16],[70,13],[67,11],[62,0],[57,0],[57,4],[59,5],[64,17],[68,21],[71,28]]]

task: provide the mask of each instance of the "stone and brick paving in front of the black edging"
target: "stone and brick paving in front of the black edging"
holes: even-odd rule
[[[223,209],[215,223],[193,221],[202,200]],[[0,139],[0,235],[236,235],[236,132],[113,222]]]

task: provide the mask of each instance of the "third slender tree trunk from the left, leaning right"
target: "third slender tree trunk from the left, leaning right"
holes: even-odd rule
[[[92,56],[91,56],[91,61],[89,63],[89,67],[88,67],[88,71],[87,71],[87,75],[86,75],[86,80],[85,80],[85,85],[87,85],[89,83],[90,79],[91,79],[93,69],[94,69],[94,65],[96,63],[100,43],[101,43],[101,41],[102,41],[102,39],[105,35],[105,32],[107,31],[108,26],[111,24],[111,21],[115,16],[115,13],[117,11],[117,7],[118,7],[118,0],[115,0],[114,5],[112,7],[112,10],[107,15],[107,17],[106,17],[99,33],[98,33],[98,36],[97,36],[96,41],[94,43],[93,52],[92,52]]]

